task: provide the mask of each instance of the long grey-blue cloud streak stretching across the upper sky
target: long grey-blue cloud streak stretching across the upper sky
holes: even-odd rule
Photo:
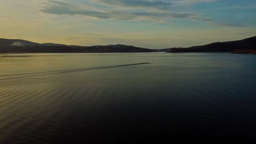
[[[115,2],[115,0],[113,0]],[[121,1],[124,2],[124,1]],[[126,1],[125,1],[126,2]],[[134,1],[132,1],[134,2]],[[146,1],[143,1],[146,2]],[[151,4],[153,1],[148,1]],[[126,2],[129,3],[129,2]],[[130,3],[133,4],[133,3]],[[142,3],[141,5],[147,5]],[[145,6],[146,7],[146,6]],[[148,4],[149,7],[149,4]],[[98,19],[111,19],[111,20],[137,20],[137,21],[154,21],[162,22],[169,19],[201,19],[193,13],[174,13],[169,11],[121,11],[111,9],[96,9],[89,8],[85,5],[75,5],[71,3],[48,1],[41,9],[44,13],[55,15],[84,15],[90,17],[97,17]]]

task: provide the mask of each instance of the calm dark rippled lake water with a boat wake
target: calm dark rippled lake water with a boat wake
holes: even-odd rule
[[[229,53],[0,54],[0,143],[255,139],[255,72]]]

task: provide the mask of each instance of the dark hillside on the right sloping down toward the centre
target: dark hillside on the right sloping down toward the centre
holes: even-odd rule
[[[246,52],[245,52],[246,50]],[[256,37],[243,40],[226,41],[212,43],[202,46],[192,46],[188,48],[171,48],[169,52],[234,52],[251,53],[256,51]]]

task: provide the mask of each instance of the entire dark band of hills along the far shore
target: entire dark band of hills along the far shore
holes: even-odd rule
[[[34,43],[20,39],[0,39],[0,53],[132,53],[132,52],[230,52],[256,55],[256,37],[218,42],[188,48],[145,49],[131,45],[77,46],[54,43]]]

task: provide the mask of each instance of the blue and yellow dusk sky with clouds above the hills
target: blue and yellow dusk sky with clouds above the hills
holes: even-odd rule
[[[0,38],[189,47],[256,35],[255,0],[0,0]]]

